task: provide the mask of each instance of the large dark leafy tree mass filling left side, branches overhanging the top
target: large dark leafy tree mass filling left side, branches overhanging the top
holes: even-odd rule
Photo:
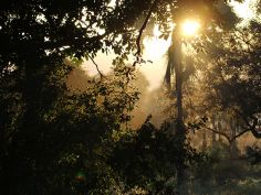
[[[218,1],[197,2],[211,13]],[[173,13],[179,15],[177,8],[192,12],[195,4],[191,0],[116,0],[115,7],[108,0],[1,1],[3,194],[105,194],[109,187],[105,185],[114,182],[107,181],[112,171],[105,162],[106,141],[129,119],[124,113],[137,94],[127,91],[126,77],[121,77],[71,95],[64,79],[72,67],[63,59],[93,57],[108,48],[119,55],[132,52],[139,17],[153,9],[152,17],[167,34],[169,18],[175,21]]]

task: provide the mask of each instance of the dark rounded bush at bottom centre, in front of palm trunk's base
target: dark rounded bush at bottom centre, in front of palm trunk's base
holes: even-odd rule
[[[128,187],[142,186],[148,194],[176,194],[176,167],[187,169],[207,160],[187,141],[180,148],[169,126],[165,122],[157,129],[148,117],[137,132],[122,137],[115,144],[109,162]]]

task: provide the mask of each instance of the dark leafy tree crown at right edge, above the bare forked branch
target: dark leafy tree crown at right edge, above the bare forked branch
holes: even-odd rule
[[[216,66],[209,84],[218,95],[218,105],[231,108],[255,138],[260,138],[261,113],[260,23],[249,29],[220,32],[212,37],[210,58]],[[213,94],[212,94],[213,95]]]

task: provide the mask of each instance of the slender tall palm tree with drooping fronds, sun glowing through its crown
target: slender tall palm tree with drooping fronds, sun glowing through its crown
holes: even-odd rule
[[[194,2],[195,3],[195,2]],[[173,15],[173,21],[175,22],[176,26],[174,28],[171,32],[171,45],[168,51],[168,66],[166,71],[165,80],[167,85],[170,87],[171,82],[171,75],[175,74],[175,95],[177,97],[177,106],[176,106],[176,131],[177,136],[180,138],[180,150],[182,150],[182,144],[186,140],[186,128],[184,124],[184,110],[182,110],[182,75],[184,75],[184,65],[182,65],[182,42],[184,37],[181,35],[181,21],[184,20],[184,17],[187,14],[190,14],[195,18],[202,18],[208,17],[212,21],[216,20],[217,25],[226,24],[225,26],[228,26],[227,24],[234,24],[236,17],[231,13],[231,9],[228,9],[226,4],[219,4],[217,1],[209,1],[208,3],[203,1],[198,1],[197,6],[191,4],[191,2],[187,2],[184,4],[179,4],[176,8],[176,14]],[[203,8],[207,8],[203,10]],[[223,17],[221,9],[225,9],[225,12],[227,15],[230,15],[229,19],[225,19],[220,22],[220,20],[217,20],[217,15]],[[227,9],[227,10],[226,10]],[[211,11],[210,11],[211,10]],[[222,10],[223,11],[223,10]],[[211,14],[212,12],[212,14]],[[200,15],[202,14],[202,15]],[[210,20],[210,21],[211,21]],[[208,22],[205,23],[205,28],[208,26]],[[211,25],[210,25],[211,26]],[[181,164],[181,163],[180,163]],[[178,185],[181,185],[184,180],[184,167],[177,167],[177,178],[178,178]]]

